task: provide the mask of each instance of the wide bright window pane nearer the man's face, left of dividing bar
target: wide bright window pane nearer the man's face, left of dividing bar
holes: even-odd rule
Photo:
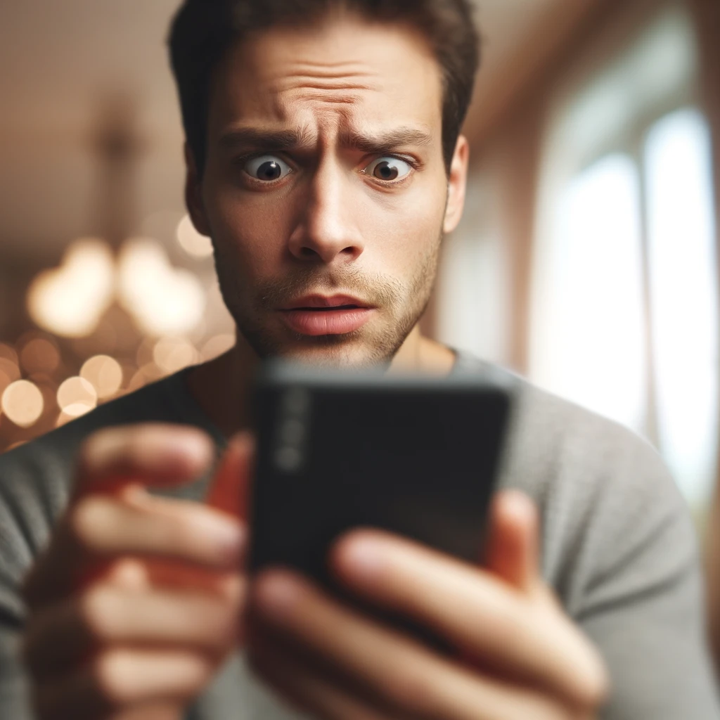
[[[639,207],[635,164],[619,153],[562,194],[541,371],[554,392],[635,428],[646,400]]]

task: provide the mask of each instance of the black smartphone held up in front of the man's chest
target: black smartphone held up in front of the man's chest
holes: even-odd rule
[[[332,588],[328,549],[359,526],[481,562],[511,377],[266,365],[254,397],[250,572],[289,567]]]

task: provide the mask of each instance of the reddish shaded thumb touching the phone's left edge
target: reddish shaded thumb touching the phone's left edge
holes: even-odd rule
[[[207,492],[207,505],[246,521],[254,453],[250,433],[239,433],[230,440]]]

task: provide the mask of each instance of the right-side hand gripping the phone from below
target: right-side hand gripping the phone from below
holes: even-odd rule
[[[251,588],[251,663],[324,719],[590,720],[606,673],[539,577],[536,526],[525,496],[499,495],[485,570],[379,531],[333,549],[345,588],[413,618],[451,656],[269,570]]]

